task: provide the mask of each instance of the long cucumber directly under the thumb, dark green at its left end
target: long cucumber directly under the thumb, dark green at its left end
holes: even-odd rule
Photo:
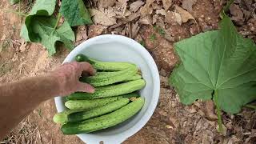
[[[143,79],[138,79],[135,81],[124,82],[118,85],[98,87],[96,88],[94,94],[76,92],[74,94],[70,94],[66,98],[68,100],[75,100],[114,97],[117,95],[128,94],[136,90],[140,90],[145,85],[146,82]]]

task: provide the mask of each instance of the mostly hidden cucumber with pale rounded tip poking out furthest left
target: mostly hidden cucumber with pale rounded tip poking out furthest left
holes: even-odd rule
[[[64,124],[64,123],[68,122],[68,118],[67,118],[68,114],[81,112],[81,111],[83,111],[83,110],[64,110],[64,111],[54,115],[54,118],[53,118],[54,122]]]

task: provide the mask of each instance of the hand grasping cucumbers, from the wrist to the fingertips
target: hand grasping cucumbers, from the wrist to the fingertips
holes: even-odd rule
[[[82,74],[94,75],[96,70],[88,62],[68,62],[58,67],[51,74],[59,85],[59,95],[66,96],[76,91],[94,93],[90,84],[79,82]]]

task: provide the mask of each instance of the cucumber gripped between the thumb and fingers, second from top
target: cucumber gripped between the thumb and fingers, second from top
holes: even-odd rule
[[[102,74],[100,74],[100,75],[82,78],[80,80],[82,82],[90,83],[90,85],[94,87],[107,86],[116,82],[122,82],[128,78],[131,78],[137,72],[138,72],[138,68],[136,66],[130,66],[126,70],[110,72],[112,74],[110,74],[109,76],[104,74],[106,75],[105,78],[102,78]]]

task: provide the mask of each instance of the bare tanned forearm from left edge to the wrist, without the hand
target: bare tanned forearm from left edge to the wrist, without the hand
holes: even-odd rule
[[[38,104],[60,94],[59,83],[53,75],[45,75],[0,85],[0,138]]]

